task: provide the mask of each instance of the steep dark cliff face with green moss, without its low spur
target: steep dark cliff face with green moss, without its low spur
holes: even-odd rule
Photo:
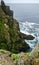
[[[0,5],[0,48],[15,53],[30,48],[21,36],[19,24],[13,19],[13,12],[3,1]]]

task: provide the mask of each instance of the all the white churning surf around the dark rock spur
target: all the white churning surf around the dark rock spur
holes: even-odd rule
[[[34,40],[25,40],[31,48],[36,46],[36,43],[39,41],[39,24],[31,22],[19,22],[20,31],[27,35],[33,35]]]

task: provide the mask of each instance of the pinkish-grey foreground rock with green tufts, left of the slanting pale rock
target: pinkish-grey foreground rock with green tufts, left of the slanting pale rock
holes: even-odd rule
[[[0,53],[0,65],[30,65],[26,53],[21,52],[18,55],[13,54],[12,56],[10,54],[8,51]]]

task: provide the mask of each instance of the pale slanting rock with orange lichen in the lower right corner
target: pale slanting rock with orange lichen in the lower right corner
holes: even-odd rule
[[[39,42],[30,53],[30,57],[28,59],[30,59],[30,63],[32,65],[39,65]]]

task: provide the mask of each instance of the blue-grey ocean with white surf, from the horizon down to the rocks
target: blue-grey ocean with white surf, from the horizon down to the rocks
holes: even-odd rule
[[[13,10],[14,18],[19,22],[20,31],[27,35],[33,35],[34,40],[25,40],[33,49],[39,41],[39,4],[8,4]]]

